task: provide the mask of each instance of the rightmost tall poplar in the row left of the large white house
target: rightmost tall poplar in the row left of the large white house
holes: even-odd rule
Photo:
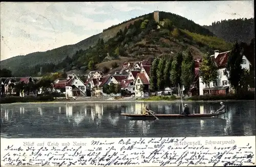
[[[181,64],[181,84],[187,92],[195,79],[195,61],[191,52],[187,49],[183,52],[183,61]]]

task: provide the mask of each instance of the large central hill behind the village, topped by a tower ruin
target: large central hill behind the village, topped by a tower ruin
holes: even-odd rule
[[[173,55],[189,47],[195,57],[202,57],[207,51],[226,51],[230,46],[230,43],[214,37],[208,29],[191,20],[159,12],[157,18],[154,13],[145,14],[73,45],[1,61],[1,68],[8,68],[13,75],[20,77],[35,76],[40,67],[43,73],[59,70],[85,72],[97,68],[98,63],[118,60],[120,56],[141,60]]]

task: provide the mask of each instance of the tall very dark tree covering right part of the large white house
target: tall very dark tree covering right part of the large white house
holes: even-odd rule
[[[230,85],[234,87],[235,92],[238,92],[239,83],[241,81],[241,76],[243,73],[242,70],[242,58],[243,58],[243,50],[241,49],[238,42],[233,44],[230,55],[228,56],[226,69],[228,71],[227,78],[230,82]]]

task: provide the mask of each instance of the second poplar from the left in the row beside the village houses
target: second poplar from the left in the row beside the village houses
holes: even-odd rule
[[[160,58],[158,66],[157,66],[157,89],[160,91],[164,90],[164,77],[163,70],[165,66],[165,59]]]

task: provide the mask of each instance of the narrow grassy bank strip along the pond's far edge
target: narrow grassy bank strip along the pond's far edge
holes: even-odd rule
[[[190,102],[230,102],[230,101],[254,101],[254,94],[245,94],[238,96],[229,94],[226,96],[195,96],[183,98],[183,103]],[[19,104],[19,103],[125,103],[125,102],[167,102],[167,103],[180,103],[181,98],[175,96],[153,96],[149,98],[136,99],[133,97],[126,97],[115,100],[113,97],[92,98],[84,97],[77,98],[76,100],[66,100],[65,98],[54,98],[52,96],[45,97],[5,97],[0,99],[0,104]]]

